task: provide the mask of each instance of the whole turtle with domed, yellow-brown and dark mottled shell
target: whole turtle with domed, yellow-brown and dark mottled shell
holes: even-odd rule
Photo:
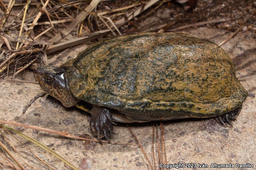
[[[115,122],[216,117],[231,124],[247,96],[225,50],[182,33],[110,37],[34,75],[65,107],[91,113],[92,134],[108,141]]]

